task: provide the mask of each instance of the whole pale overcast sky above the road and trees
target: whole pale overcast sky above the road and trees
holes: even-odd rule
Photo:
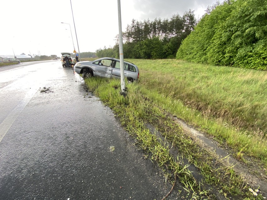
[[[122,30],[132,19],[170,19],[189,9],[200,18],[216,0],[121,0]],[[71,0],[80,52],[113,47],[118,34],[117,0]],[[41,55],[76,51],[70,0],[3,0],[0,55]],[[69,23],[69,24],[63,24]],[[71,26],[71,30],[70,30]],[[66,30],[67,29],[67,30]],[[73,42],[71,39],[73,36]],[[13,49],[13,50],[12,50]]]

